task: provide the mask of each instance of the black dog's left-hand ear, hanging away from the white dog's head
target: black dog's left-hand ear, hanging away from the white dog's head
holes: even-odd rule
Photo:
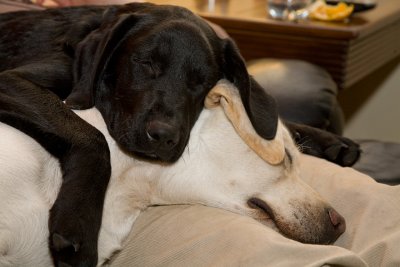
[[[72,109],[94,106],[99,79],[110,58],[124,36],[140,19],[136,14],[116,13],[116,8],[107,10],[104,23],[77,45],[73,66],[74,87],[65,101]]]

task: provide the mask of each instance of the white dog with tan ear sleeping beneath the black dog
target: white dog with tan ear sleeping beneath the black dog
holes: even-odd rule
[[[275,140],[262,140],[226,81],[209,94],[207,106],[174,164],[124,154],[97,110],[77,111],[106,136],[111,151],[99,265],[122,248],[151,205],[218,207],[307,243],[330,243],[343,233],[344,219],[299,179],[299,152],[281,122]],[[0,135],[0,266],[51,266],[47,220],[61,184],[58,161],[14,128],[0,124]]]

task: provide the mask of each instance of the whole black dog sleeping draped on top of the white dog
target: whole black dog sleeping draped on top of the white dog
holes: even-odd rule
[[[0,35],[0,121],[37,140],[63,171],[49,220],[56,265],[96,265],[111,172],[104,137],[68,107],[96,106],[128,153],[172,162],[208,91],[226,78],[239,88],[256,131],[275,136],[274,100],[249,77],[233,42],[186,9],[129,4],[15,12],[0,15]],[[289,127],[314,141],[307,153],[346,165],[358,157],[347,139]]]

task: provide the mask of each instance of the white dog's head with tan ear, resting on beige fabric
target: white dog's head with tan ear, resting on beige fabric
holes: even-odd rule
[[[134,159],[125,164],[132,171],[115,173],[124,184],[119,192],[143,201],[135,208],[203,204],[250,216],[305,243],[332,243],[344,232],[344,219],[299,178],[299,151],[281,122],[275,140],[261,139],[227,81],[212,90],[206,106],[176,163]],[[113,156],[114,170],[122,157]]]

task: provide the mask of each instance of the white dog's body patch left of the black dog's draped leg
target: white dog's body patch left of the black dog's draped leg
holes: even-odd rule
[[[49,266],[48,211],[61,182],[58,161],[0,124],[0,266]]]

